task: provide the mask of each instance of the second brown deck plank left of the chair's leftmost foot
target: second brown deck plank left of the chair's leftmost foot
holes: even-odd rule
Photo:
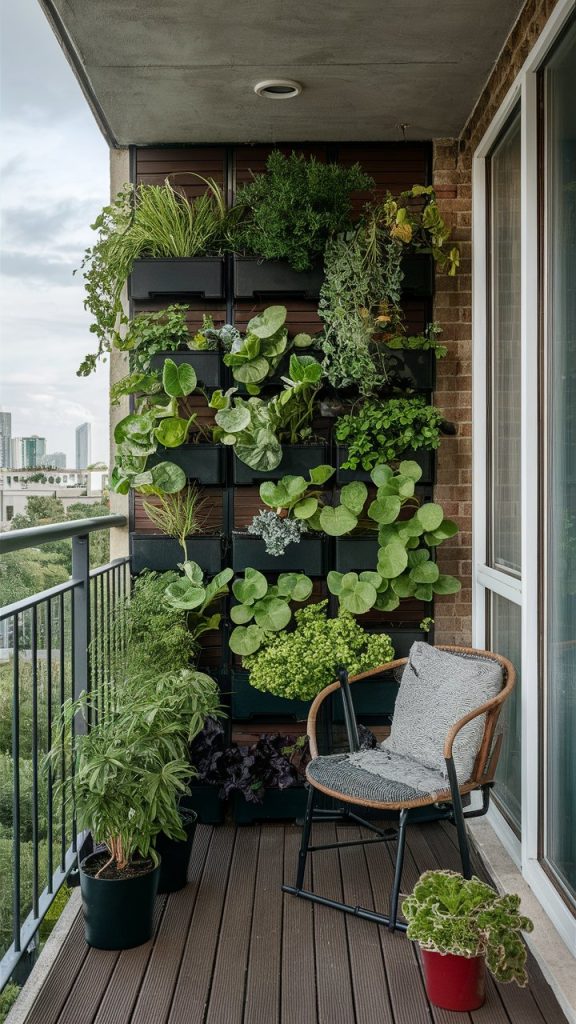
[[[206,1024],[242,1024],[259,833],[238,829]]]

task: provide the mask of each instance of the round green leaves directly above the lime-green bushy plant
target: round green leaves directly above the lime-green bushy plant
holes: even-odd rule
[[[244,579],[235,580],[232,592],[237,600],[230,616],[236,628],[230,647],[243,657],[257,651],[266,639],[285,629],[292,618],[291,601],[306,601],[312,580],[302,572],[281,572],[271,584],[257,569],[247,568]]]

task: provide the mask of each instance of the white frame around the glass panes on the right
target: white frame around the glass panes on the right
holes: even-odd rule
[[[472,158],[472,643],[487,636],[486,594],[522,607],[522,839],[497,808],[490,821],[573,954],[576,916],[538,862],[538,102],[537,72],[576,9],[559,0],[522,71]],[[522,578],[487,564],[487,195],[486,162],[515,106],[521,104],[521,332],[522,332]]]

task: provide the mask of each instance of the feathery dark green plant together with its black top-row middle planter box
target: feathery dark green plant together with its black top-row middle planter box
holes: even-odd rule
[[[349,228],[353,193],[373,187],[358,164],[346,168],[273,151],[265,172],[237,196],[235,243],[248,258],[235,258],[236,297],[317,298],[327,239]]]

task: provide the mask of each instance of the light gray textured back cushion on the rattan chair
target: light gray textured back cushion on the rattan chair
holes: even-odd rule
[[[443,749],[451,726],[501,688],[502,670],[496,662],[439,650],[417,641],[410,649],[390,735],[382,750],[412,758],[446,776]],[[454,741],[460,782],[471,775],[483,733],[484,715],[464,726]]]

